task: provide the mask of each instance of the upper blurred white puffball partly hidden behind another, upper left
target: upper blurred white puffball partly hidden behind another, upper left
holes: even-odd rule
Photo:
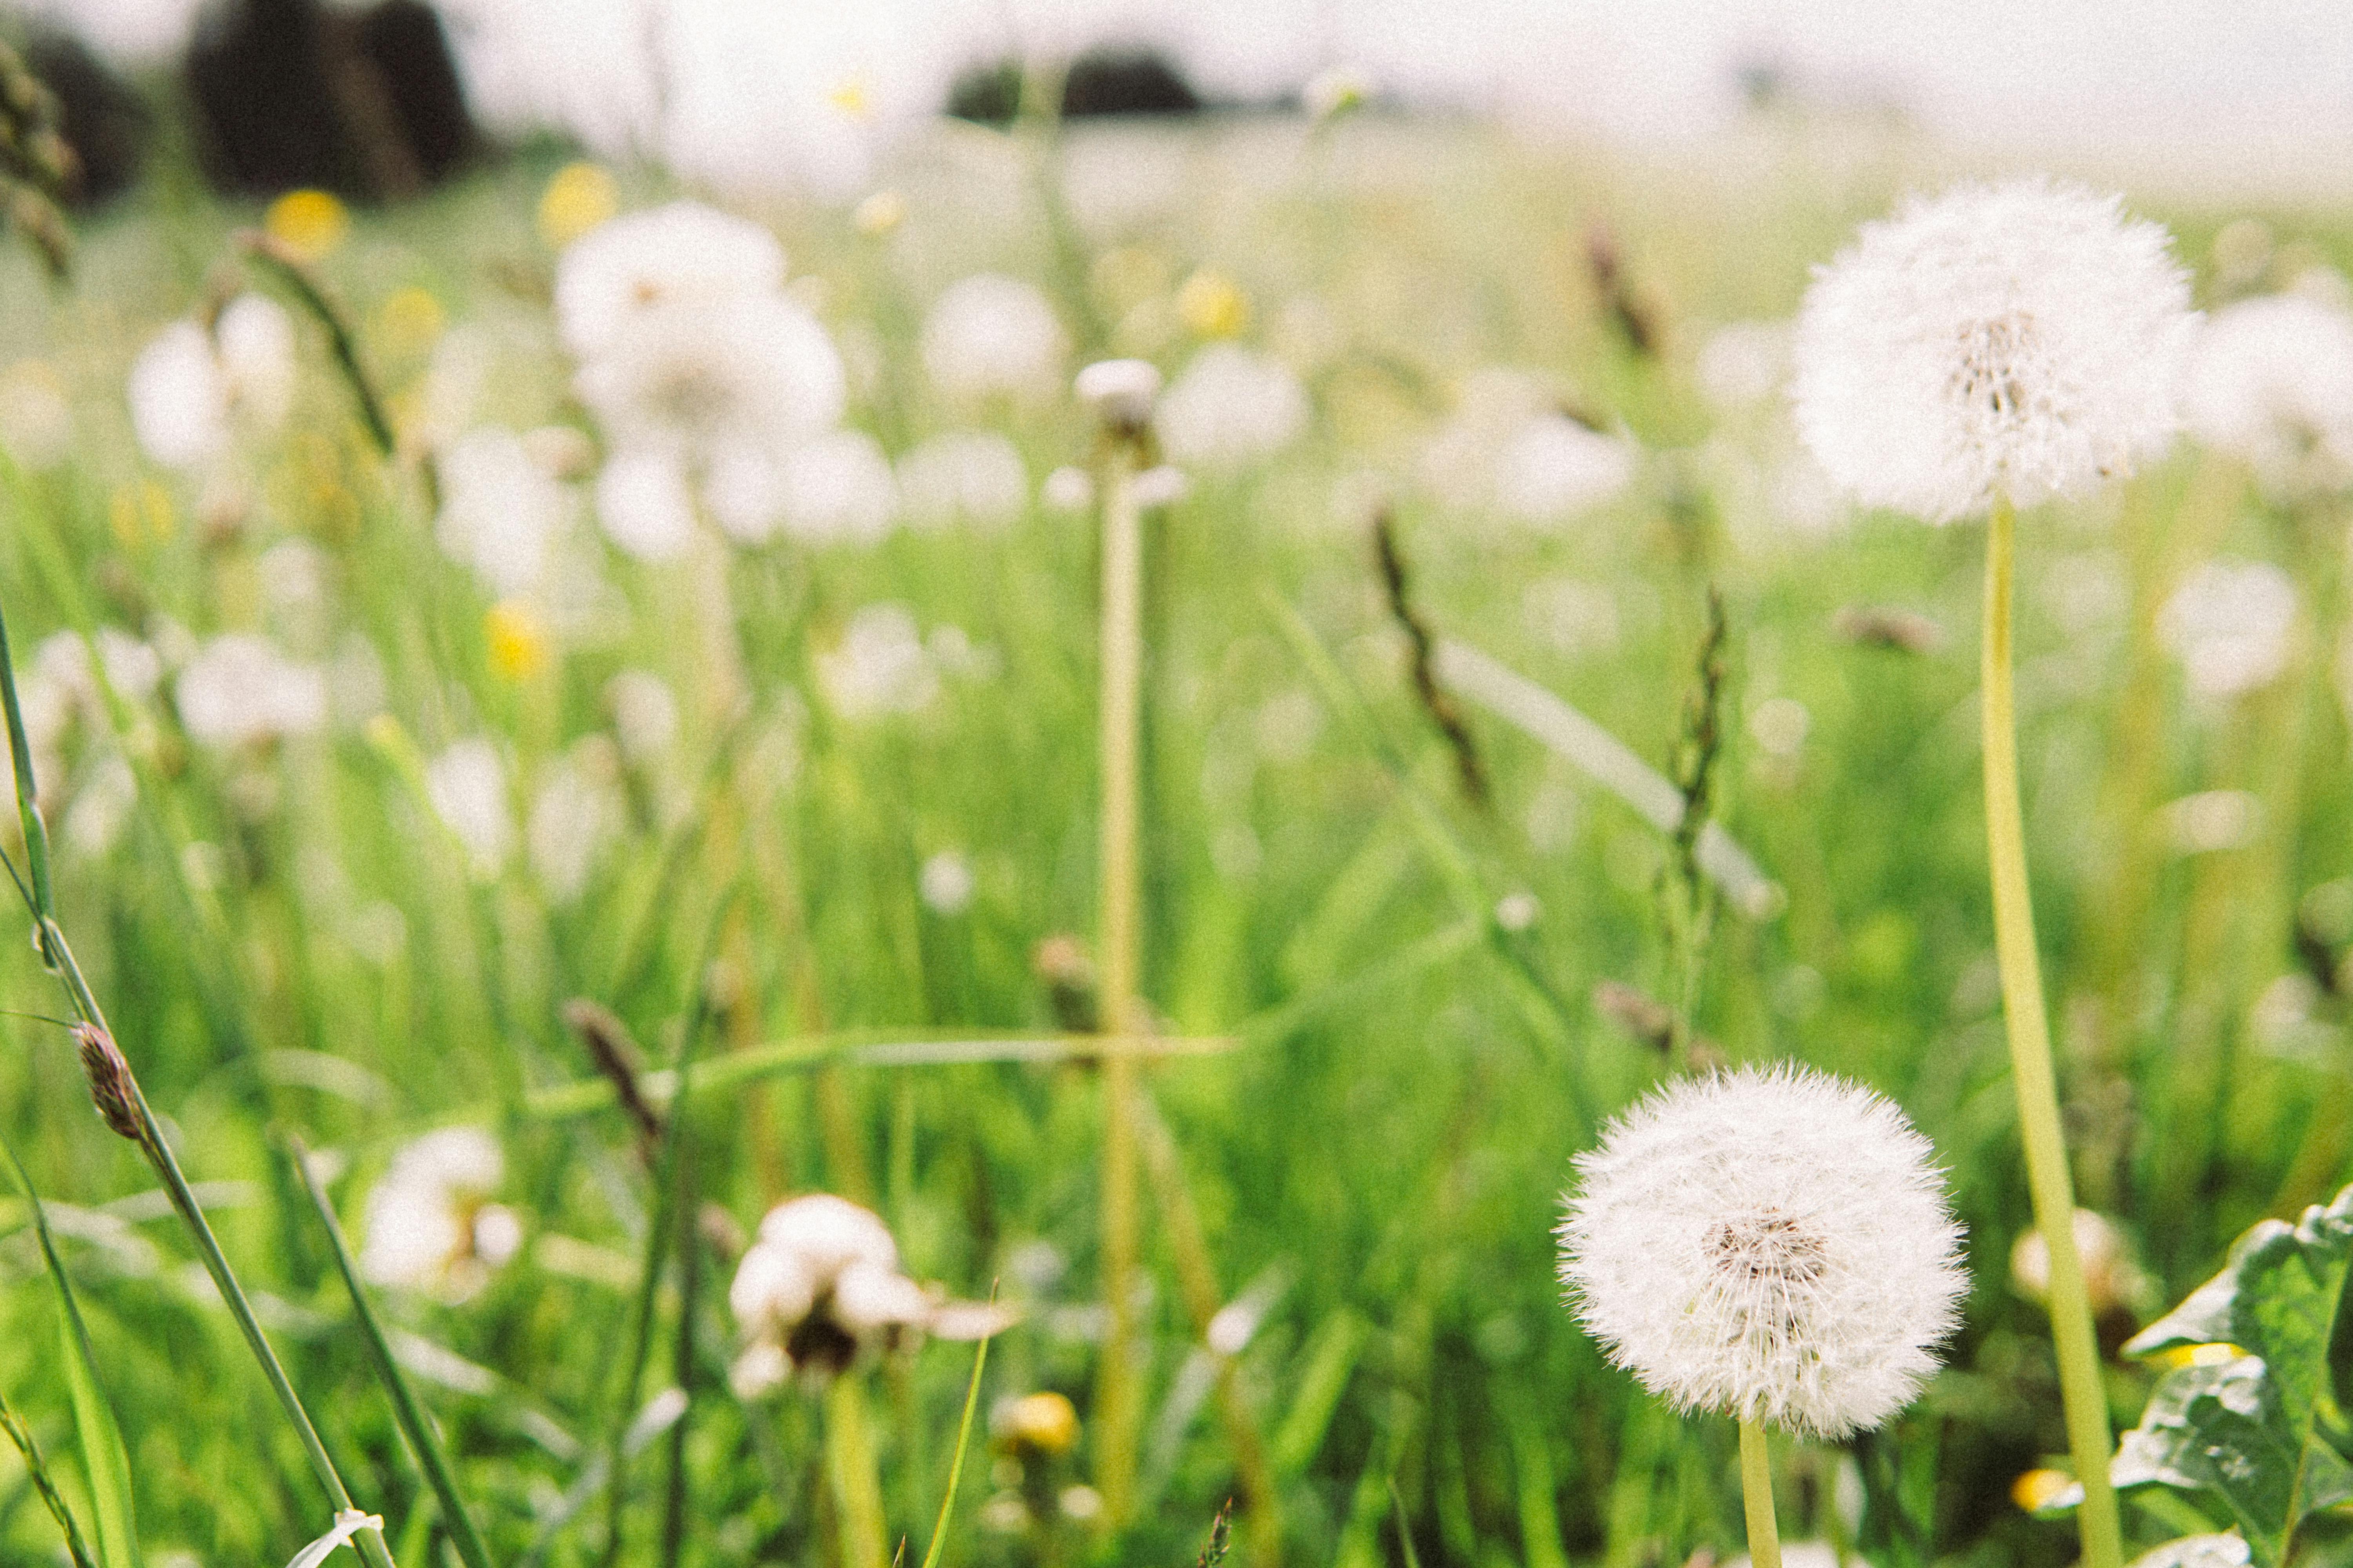
[[[645,313],[725,303],[784,287],[776,235],[701,202],[671,202],[598,223],[555,266],[555,331],[588,360],[621,343]]]

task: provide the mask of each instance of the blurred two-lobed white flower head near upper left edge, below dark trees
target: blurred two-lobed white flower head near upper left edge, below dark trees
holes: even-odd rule
[[[238,430],[268,433],[294,407],[294,320],[273,299],[240,294],[207,331],[179,320],[148,341],[129,374],[132,433],[165,468],[202,468]]]

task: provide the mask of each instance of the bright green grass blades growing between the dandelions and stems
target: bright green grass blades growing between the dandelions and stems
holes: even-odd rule
[[[1777,527],[1739,463],[1769,458],[1779,437],[1760,416],[1711,414],[1689,371],[1708,324],[1791,310],[1807,266],[1920,165],[1885,153],[1831,179],[1791,146],[1758,160],[1762,174],[1659,172],[1475,127],[1384,122],[1304,155],[1252,127],[1082,150],[1104,146],[1172,193],[1118,233],[1082,226],[1096,280],[1115,275],[1096,266],[1101,252],[1129,247],[1129,270],[1162,287],[1195,266],[1231,273],[1254,303],[1254,336],[1289,343],[1299,317],[1285,327],[1285,306],[1308,296],[1327,322],[1308,371],[1311,437],[1242,477],[1200,477],[1155,524],[1146,604],[1144,994],[1186,1037],[1235,1039],[1153,1067],[1148,1084],[1219,1293],[1273,1302],[1235,1392],[1266,1436],[1285,1559],[1619,1568],[1741,1540],[1729,1422],[1657,1410],[1602,1363],[1553,1281],[1548,1232],[1569,1159],[1661,1072],[1591,994],[1605,980],[1671,994],[1668,844],[1475,710],[1494,802],[1464,804],[1405,679],[1369,536],[1334,517],[1341,480],[1367,468],[1409,480],[1459,381],[1504,362],[1560,376],[1642,435],[1654,461],[1624,501],[1541,536],[1447,515],[1405,484],[1398,522],[1419,609],[1664,766],[1706,585],[1722,590],[1722,820],[1786,889],[1786,907],[1767,922],[1718,917],[1697,1027],[1732,1058],[1795,1056],[1894,1095],[1951,1168],[1969,1227],[1977,1284],[1951,1368],[1852,1453],[1864,1537],[1889,1566],[2071,1561],[2066,1526],[2009,1502],[2012,1479],[2064,1436],[2042,1312],[2007,1269],[2028,1197],[1977,783],[1981,541],[1892,517],[1821,541]],[[579,418],[534,296],[553,266],[529,221],[546,172],[513,165],[365,214],[322,263],[395,411],[424,355],[388,339],[381,306],[416,284],[452,322],[508,346],[485,416],[515,428]],[[889,242],[828,209],[765,214],[795,275],[821,282],[828,322],[871,334],[885,393],[854,418],[894,451],[960,423],[922,388],[913,353],[936,287],[981,266],[1054,284],[1016,176],[1005,146],[967,129],[899,169],[911,216]],[[652,176],[631,186],[638,200],[661,190]],[[407,1347],[492,1559],[515,1563],[635,1413],[616,1406],[616,1363],[633,1342],[638,1260],[661,1255],[647,1227],[664,1199],[621,1112],[532,1110],[593,1079],[562,1001],[602,1001],[659,1058],[708,1006],[694,1053],[713,1079],[729,1056],[821,1034],[1056,1030],[1031,950],[1094,929],[1092,529],[1035,512],[1002,534],[736,555],[718,614],[708,581],[612,557],[628,614],[609,637],[506,682],[487,665],[485,597],[435,550],[414,480],[374,461],[313,329],[299,418],[240,456],[259,498],[242,531],[207,531],[193,487],[141,468],[122,371],[252,216],[148,193],[92,226],[71,292],[47,292],[28,259],[0,268],[12,301],[0,353],[40,355],[78,414],[75,456],[0,494],[0,602],[19,668],[59,628],[266,625],[304,656],[360,637],[402,741],[346,726],[224,762],[191,745],[162,703],[129,712],[120,738],[85,724],[68,769],[122,750],[141,795],[106,853],[61,842],[59,917],[327,1448],[358,1505],[384,1514],[402,1563],[445,1561],[433,1493],[278,1131],[341,1157],[329,1194],[355,1237],[369,1182],[407,1138],[452,1119],[501,1133],[501,1197],[527,1215],[532,1246],[464,1305],[379,1295],[374,1309],[395,1354]],[[2158,216],[2198,263],[2233,214]],[[2282,240],[2348,254],[2353,230],[2271,219]],[[1628,353],[1598,310],[1581,270],[1595,221],[1619,233],[1666,322],[1661,362]],[[1113,346],[1125,343],[1096,348]],[[1167,367],[1181,355],[1181,341],[1158,348]],[[1033,480],[1089,447],[1064,404],[993,423]],[[125,510],[136,522],[151,480],[172,527],[118,529]],[[2344,630],[2339,534],[2337,503],[2280,512],[2191,449],[2108,496],[2021,520],[2028,853],[2075,1173],[2082,1201],[2115,1215],[2141,1253],[2151,1281],[2132,1309],[2144,1321],[2205,1279],[2247,1222],[2348,1178],[2341,1143],[2306,1152],[2344,1126],[2353,1053],[2337,1004],[2297,1053],[2249,1025],[2257,994],[2299,969],[2299,900],[2353,875],[2348,733],[2329,675]],[[261,550],[282,538],[308,538],[327,562],[325,602],[296,618],[266,609],[256,585]],[[2191,708],[2148,628],[2184,564],[2214,550],[2275,559],[2308,595],[2292,672],[2219,717]],[[1548,576],[1605,592],[1614,639],[1562,649],[1532,628],[1522,602]],[[2059,602],[2082,599],[2087,583],[2113,588],[2111,614],[2071,625]],[[922,715],[842,722],[814,689],[812,651],[882,599],[906,602],[925,630],[962,628],[993,661],[951,675]],[[1861,646],[1835,630],[1852,604],[1911,607],[1944,639],[1927,654]],[[713,637],[739,649],[741,722],[708,675]],[[1304,654],[1327,663],[1322,677]],[[520,865],[471,879],[400,766],[402,745],[431,755],[487,733],[515,778],[536,780],[609,724],[600,691],[621,668],[664,675],[682,726],[675,755],[635,780],[631,830],[586,898],[551,907]],[[1769,698],[1809,715],[1791,757],[1746,729]],[[2257,792],[2264,835],[2169,853],[2153,811],[2212,788]],[[52,835],[66,837],[54,818]],[[976,870],[958,917],[918,900],[918,867],[941,849]],[[1504,933],[1489,910],[1520,889],[1541,917]],[[7,954],[7,1004],[54,1011],[31,947]],[[73,1041],[28,1018],[0,1032],[0,1124],[73,1276],[146,1559],[285,1561],[325,1533],[329,1509],[235,1324],[136,1152],[89,1114]],[[744,1225],[791,1192],[873,1204],[915,1276],[965,1298],[1002,1279],[1002,1298],[1028,1314],[991,1345],[984,1408],[1059,1389],[1085,1415],[1096,1359],[1078,1309],[1096,1272],[1101,1121],[1082,1060],[866,1058],[831,1077],[741,1074],[682,1114],[680,1192]],[[974,1453],[944,1561],[1176,1563],[1200,1549],[1238,1486],[1235,1453],[1202,1373],[1188,1371],[1198,1335],[1165,1213],[1146,1182],[1141,1519],[1111,1542],[991,1530],[988,1497],[1019,1483],[991,1479],[993,1455]],[[0,1227],[0,1394],[92,1533],[31,1213],[7,1204]],[[595,1276],[584,1255],[614,1267]],[[673,1378],[678,1328],[671,1288],[656,1281],[645,1300],[640,1401]],[[699,1314],[675,1448],[692,1495],[680,1561],[831,1561],[819,1401],[739,1406],[725,1387],[722,1279],[704,1281]],[[962,1349],[934,1345],[871,1380],[894,1544],[929,1540],[946,1516],[939,1488],[972,1375]],[[2111,1389],[2129,1425],[2146,1375],[2113,1363]],[[652,1443],[626,1469],[631,1561],[661,1537],[668,1453]],[[1087,1479],[1085,1448],[1054,1465],[1054,1486]],[[1838,1448],[1795,1450],[1786,1537],[1828,1530],[1826,1509],[1852,1490],[1847,1465]],[[605,1497],[588,1500],[541,1561],[600,1561],[605,1519]],[[2127,1502],[2127,1533],[2153,1542],[2174,1528]],[[31,1479],[0,1453],[0,1556],[56,1549]],[[1249,1549],[1245,1519],[1235,1552]]]

